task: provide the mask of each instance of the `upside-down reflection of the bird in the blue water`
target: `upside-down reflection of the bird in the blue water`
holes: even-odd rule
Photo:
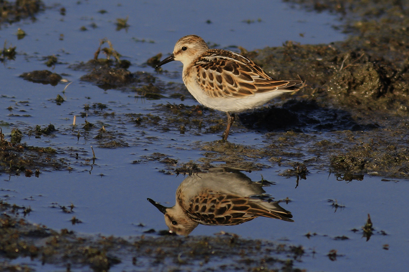
[[[165,214],[169,232],[179,235],[189,235],[198,224],[233,226],[258,216],[292,222],[291,212],[264,193],[261,183],[225,167],[187,176],[176,190],[173,207],[148,201]]]

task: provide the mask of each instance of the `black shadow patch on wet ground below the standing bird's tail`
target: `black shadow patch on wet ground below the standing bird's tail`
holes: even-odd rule
[[[289,100],[282,107],[265,107],[239,114],[244,127],[259,131],[367,131],[377,123],[359,123],[345,110],[324,108],[315,101]]]

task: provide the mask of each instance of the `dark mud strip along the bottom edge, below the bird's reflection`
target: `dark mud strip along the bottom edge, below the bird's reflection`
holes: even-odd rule
[[[63,229],[32,225],[18,216],[26,207],[0,202],[0,252],[8,259],[30,257],[32,263],[58,268],[106,271],[115,267],[147,270],[259,270],[301,271],[306,252],[284,242],[243,239],[234,234],[216,236],[79,236]],[[156,233],[151,230],[150,233]],[[165,232],[160,232],[165,233]],[[30,265],[2,263],[3,269],[30,270]]]

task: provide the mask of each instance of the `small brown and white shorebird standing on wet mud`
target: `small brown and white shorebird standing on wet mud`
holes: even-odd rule
[[[272,98],[300,89],[300,80],[275,80],[247,57],[221,49],[209,49],[202,38],[188,35],[176,42],[173,54],[155,68],[178,60],[183,63],[183,82],[202,105],[224,111],[227,140],[235,113],[264,105]]]

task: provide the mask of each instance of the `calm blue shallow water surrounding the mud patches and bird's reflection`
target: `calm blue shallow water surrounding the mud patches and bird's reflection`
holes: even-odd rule
[[[126,114],[153,112],[161,116],[163,113],[156,110],[156,105],[179,104],[180,99],[141,100],[131,92],[102,90],[79,81],[85,72],[68,66],[92,59],[100,39],[106,37],[112,41],[123,58],[133,64],[129,68],[132,72],[154,73],[152,68],[144,65],[146,60],[160,52],[170,54],[175,41],[187,34],[200,35],[210,43],[217,43],[220,48],[234,45],[243,46],[247,50],[280,46],[286,40],[328,43],[345,38],[344,34],[332,28],[337,23],[332,15],[307,13],[277,1],[269,4],[198,2],[195,6],[187,1],[178,2],[177,6],[155,1],[45,3],[52,8],[37,15],[35,22],[25,20],[3,26],[0,30],[0,44],[7,40],[8,44],[17,46],[18,52],[15,60],[4,62],[0,68],[2,129],[8,138],[10,130],[18,127],[25,135],[22,142],[32,146],[53,147],[59,152],[57,158],[69,162],[72,170],[42,170],[38,178],[2,174],[1,196],[9,203],[30,206],[33,211],[26,218],[31,222],[52,229],[66,228],[86,234],[127,237],[144,234],[150,229],[165,229],[163,215],[146,198],[150,197],[166,206],[174,205],[176,188],[184,177],[163,174],[161,170],[166,172],[166,165],[152,154],[161,153],[176,159],[177,166],[199,161],[206,155],[197,147],[197,142],[216,141],[220,136],[206,133],[197,135],[192,133],[193,130],[180,134],[178,127],[170,127],[166,132],[153,126],[137,127]],[[61,7],[66,9],[65,16],[59,14]],[[107,13],[98,12],[102,9]],[[242,10],[246,11],[245,16],[238,15],[242,14]],[[116,19],[128,15],[130,27],[115,31]],[[207,20],[212,23],[206,23]],[[246,23],[243,20],[254,22]],[[97,28],[92,28],[92,23]],[[88,30],[80,31],[82,26]],[[18,28],[28,34],[24,39],[16,39],[14,34]],[[63,40],[59,40],[60,34],[64,35]],[[22,72],[51,69],[43,64],[42,58],[53,54],[62,62],[53,71],[73,82],[64,93],[62,90],[66,84],[60,83],[53,87],[18,78]],[[166,69],[180,72],[181,65],[169,64]],[[160,79],[181,82],[180,77],[169,79],[162,75]],[[53,101],[57,94],[63,95],[66,100],[60,106]],[[84,112],[85,104],[94,103],[106,104],[108,108],[89,111],[86,120],[94,123],[97,129],[104,126],[108,132],[113,132],[116,140],[126,142],[129,146],[116,149],[98,147],[99,141],[94,139],[92,133],[82,133],[77,138],[77,132],[83,131],[85,121],[79,115]],[[197,104],[190,98],[183,103]],[[12,112],[7,110],[10,106]],[[103,116],[101,112],[108,115]],[[111,115],[112,112],[115,114]],[[74,115],[77,116],[75,127],[72,125]],[[27,136],[28,128],[33,129],[36,125],[45,127],[49,123],[58,130],[51,136]],[[316,132],[316,136],[326,137],[319,132]],[[264,134],[256,131],[233,131],[229,141],[259,148],[268,143]],[[94,163],[91,146],[97,157]],[[408,204],[407,181],[382,181],[379,177],[369,176],[362,181],[337,181],[333,174],[325,170],[311,170],[306,180],[301,180],[295,188],[296,177],[279,175],[288,167],[271,164],[266,159],[259,159],[258,162],[271,167],[246,175],[253,181],[260,181],[263,177],[275,182],[276,185],[264,189],[276,200],[286,197],[291,200],[281,206],[291,211],[294,222],[256,218],[238,226],[199,225],[191,235],[213,235],[225,231],[242,237],[302,244],[311,258],[304,258],[300,267],[313,271],[373,271],[405,267],[409,248],[405,232],[409,215],[404,209]],[[335,210],[328,200],[345,207]],[[61,206],[70,210],[71,204],[74,205],[72,212],[62,211]],[[375,231],[370,240],[366,241],[362,238],[361,227],[368,214],[371,215]],[[73,216],[82,223],[72,225]],[[352,229],[359,232],[354,233]],[[387,235],[382,235],[381,231]],[[307,233],[316,235],[307,238]],[[349,239],[336,239],[344,235]],[[389,245],[389,250],[382,248],[385,244]],[[333,249],[343,255],[338,256],[336,261],[326,256]]]

